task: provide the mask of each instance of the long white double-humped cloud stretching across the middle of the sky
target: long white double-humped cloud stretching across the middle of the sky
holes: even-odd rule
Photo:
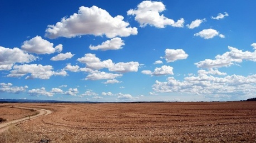
[[[138,62],[127,62],[127,63],[113,63],[111,59],[101,61],[97,58],[95,54],[85,54],[85,57],[77,59],[80,63],[86,64],[87,68],[93,70],[99,70],[103,68],[109,69],[111,72],[127,73],[127,72],[137,72],[139,63]]]

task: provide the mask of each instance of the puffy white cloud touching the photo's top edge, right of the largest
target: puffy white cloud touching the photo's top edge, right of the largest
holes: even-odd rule
[[[183,18],[175,23],[173,19],[166,18],[164,14],[160,16],[160,12],[163,11],[165,11],[163,2],[143,1],[136,9],[127,11],[127,15],[135,15],[135,21],[139,22],[141,27],[145,27],[147,24],[157,28],[164,28],[166,25],[183,27]]]

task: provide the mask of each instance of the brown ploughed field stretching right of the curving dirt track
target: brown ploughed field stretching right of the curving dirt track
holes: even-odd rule
[[[3,105],[53,111],[15,126],[32,142],[256,142],[255,101]]]

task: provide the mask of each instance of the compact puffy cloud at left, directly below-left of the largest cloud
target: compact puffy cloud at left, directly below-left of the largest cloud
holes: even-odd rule
[[[52,54],[62,50],[62,45],[59,44],[55,48],[53,48],[53,44],[48,42],[45,39],[42,39],[41,36],[36,36],[30,40],[26,40],[23,42],[21,46],[23,50],[26,50],[29,53],[36,53],[36,54]]]

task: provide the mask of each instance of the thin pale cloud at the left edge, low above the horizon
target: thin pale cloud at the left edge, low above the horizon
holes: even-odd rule
[[[28,86],[12,86],[11,83],[0,83],[0,93],[1,92],[6,92],[6,93],[21,93],[26,91]]]

